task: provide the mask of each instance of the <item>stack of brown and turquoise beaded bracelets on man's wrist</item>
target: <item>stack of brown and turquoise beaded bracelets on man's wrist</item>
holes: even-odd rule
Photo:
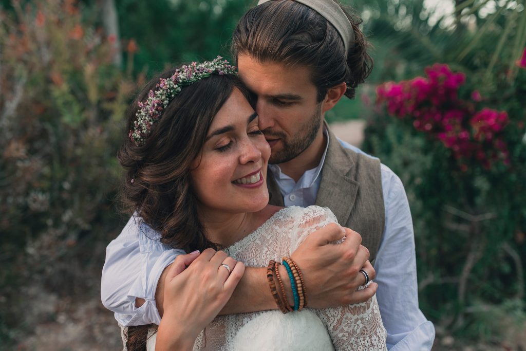
[[[301,274],[301,270],[299,269],[298,265],[296,262],[294,262],[294,260],[292,260],[292,258],[283,257],[282,264],[287,270],[287,274],[290,279],[292,296],[294,296],[294,305],[290,305],[288,302],[285,286],[283,285],[283,280],[281,280],[281,276],[279,274],[278,268],[281,263],[278,263],[273,259],[270,260],[267,268],[267,280],[270,286],[270,293],[272,294],[272,297],[274,297],[276,305],[278,305],[278,308],[282,313],[292,312],[293,310],[300,311],[304,307],[307,307],[307,294],[305,291],[305,281],[303,279],[303,275]],[[276,279],[278,280],[281,295],[279,294],[276,287],[274,276],[276,276]]]

